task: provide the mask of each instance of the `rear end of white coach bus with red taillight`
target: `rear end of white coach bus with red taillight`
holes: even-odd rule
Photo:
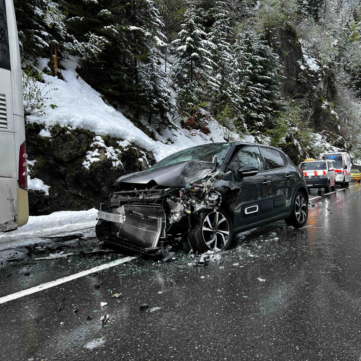
[[[0,232],[29,218],[21,63],[12,0],[0,0]]]

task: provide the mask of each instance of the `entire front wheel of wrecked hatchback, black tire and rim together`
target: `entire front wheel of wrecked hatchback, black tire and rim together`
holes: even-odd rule
[[[189,233],[189,243],[193,250],[202,253],[215,247],[225,251],[232,245],[233,233],[233,223],[226,212],[205,209],[196,218]]]

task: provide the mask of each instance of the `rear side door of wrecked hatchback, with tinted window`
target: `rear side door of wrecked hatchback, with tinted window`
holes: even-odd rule
[[[288,166],[286,157],[277,149],[261,147],[261,153],[267,169],[264,175],[270,182],[265,192],[272,200],[271,216],[279,216],[289,210],[287,207],[291,204],[296,170]]]

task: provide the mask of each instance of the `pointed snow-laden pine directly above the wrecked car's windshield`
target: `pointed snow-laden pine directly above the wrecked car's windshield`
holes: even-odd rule
[[[207,90],[213,71],[209,43],[198,15],[199,0],[187,0],[184,21],[173,41],[173,79],[178,93],[179,113],[193,115],[208,100]]]

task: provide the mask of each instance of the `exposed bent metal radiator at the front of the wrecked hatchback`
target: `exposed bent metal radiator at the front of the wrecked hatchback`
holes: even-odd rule
[[[154,247],[158,232],[158,218],[162,219],[160,237],[165,237],[165,213],[163,207],[125,205],[125,222],[112,222],[112,230],[119,232],[119,238],[139,245],[140,247]],[[112,207],[112,213],[117,213],[117,207]],[[144,218],[144,215],[147,218]]]

